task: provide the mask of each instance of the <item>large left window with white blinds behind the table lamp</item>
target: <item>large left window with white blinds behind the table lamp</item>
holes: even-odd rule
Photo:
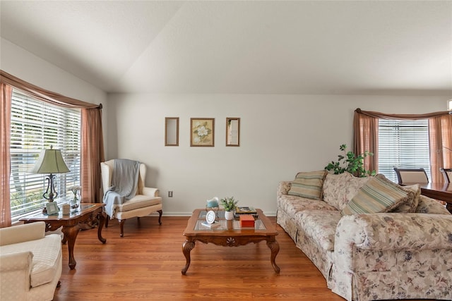
[[[59,204],[69,202],[72,192],[67,188],[80,185],[81,110],[52,106],[13,90],[11,99],[11,219],[40,211],[47,199],[42,194],[47,188],[47,175],[31,174],[44,148],[50,145],[61,149],[69,173],[55,176]],[[67,197],[66,197],[67,193]]]

